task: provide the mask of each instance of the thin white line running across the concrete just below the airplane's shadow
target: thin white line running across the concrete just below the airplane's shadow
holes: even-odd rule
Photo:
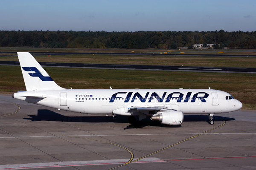
[[[8,132],[10,133],[10,132]],[[17,132],[16,132],[17,133]],[[24,132],[26,133],[26,132]],[[176,134],[128,134],[128,135],[56,135],[56,136],[16,136],[16,137],[0,137],[4,138],[42,138],[42,137],[86,137],[86,136],[142,136],[142,135],[256,135],[256,133],[176,133]]]

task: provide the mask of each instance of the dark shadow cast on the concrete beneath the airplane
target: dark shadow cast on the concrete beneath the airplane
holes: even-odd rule
[[[40,109],[38,110],[37,115],[28,115],[29,118],[23,118],[26,120],[31,120],[33,122],[36,121],[54,121],[54,122],[93,122],[93,123],[128,123],[128,116],[64,116],[59,113],[50,111],[48,109]],[[138,116],[135,116],[138,119]],[[214,121],[230,121],[235,120],[230,117],[223,116],[214,116]],[[144,126],[160,126],[160,127],[181,127],[181,125],[171,126],[171,125],[163,125],[157,121],[151,121],[151,119],[147,116],[146,119],[143,119]],[[184,115],[183,122],[208,122],[208,115]],[[135,125],[131,124],[125,127],[128,128],[136,128]]]

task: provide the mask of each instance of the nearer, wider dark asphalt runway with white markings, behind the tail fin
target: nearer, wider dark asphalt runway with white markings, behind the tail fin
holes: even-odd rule
[[[65,62],[39,62],[44,67],[71,67],[71,68],[98,68],[122,70],[155,70],[155,71],[194,71],[194,72],[229,72],[229,73],[256,73],[256,68],[236,67],[199,67],[199,66],[168,66],[168,65],[121,65],[121,64],[88,64]],[[0,61],[0,65],[20,65],[17,61]]]

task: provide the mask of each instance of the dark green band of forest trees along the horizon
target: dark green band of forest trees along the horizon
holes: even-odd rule
[[[0,31],[0,47],[39,48],[256,48],[256,31]]]

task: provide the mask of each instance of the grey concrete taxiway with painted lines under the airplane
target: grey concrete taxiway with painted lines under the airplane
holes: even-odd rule
[[[218,114],[214,125],[208,115],[185,115],[181,126],[145,119],[143,128],[127,118],[58,111],[0,94],[0,170],[256,169],[256,111]]]

